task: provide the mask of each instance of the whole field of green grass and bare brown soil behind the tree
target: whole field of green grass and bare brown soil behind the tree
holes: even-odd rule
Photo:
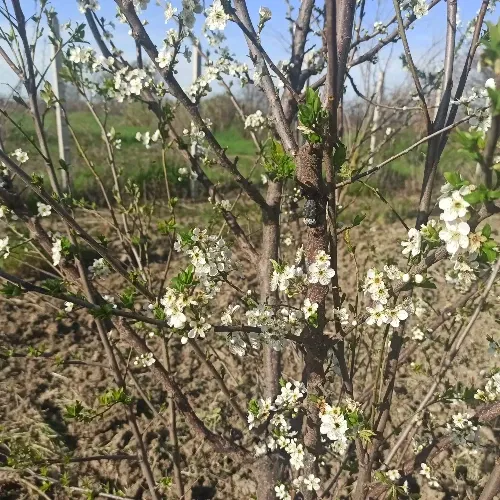
[[[121,139],[121,149],[116,152],[116,162],[121,169],[121,178],[124,181],[135,182],[140,190],[140,204],[154,206],[154,215],[148,219],[154,237],[148,245],[148,256],[151,266],[152,286],[154,290],[160,287],[165,262],[169,257],[169,239],[162,235],[158,228],[161,221],[168,219],[171,214],[165,202],[163,167],[161,154],[157,145],[146,149],[135,139],[136,132],[156,129],[149,114],[136,106],[124,108],[120,114],[110,113],[106,118],[109,126],[113,126]],[[10,116],[18,122],[28,135],[34,133],[30,128],[29,118],[22,111],[16,109]],[[104,117],[104,115],[103,115]],[[95,166],[95,171],[103,179],[107,189],[112,187],[112,179],[105,165],[106,151],[99,140],[100,130],[87,111],[72,111],[70,123],[75,135],[86,151],[88,160]],[[46,126],[49,130],[49,146],[51,153],[57,155],[57,140],[52,115],[48,115]],[[3,140],[7,150],[22,146],[30,156],[34,150],[28,141],[11,125],[4,122]],[[415,130],[409,129],[406,134],[400,134],[397,140],[391,141],[376,156],[376,162],[391,157],[408,147],[414,140]],[[251,139],[242,130],[241,124],[234,123],[223,130],[216,131],[219,142],[227,147],[231,158],[238,156],[241,171],[256,182],[262,190],[265,189],[261,174],[264,173],[261,163],[255,154],[255,147]],[[398,159],[387,166],[380,173],[372,176],[368,183],[377,188],[383,199],[368,187],[356,187],[347,190],[344,198],[345,210],[341,213],[341,222],[349,225],[356,214],[365,214],[366,219],[359,227],[352,229],[349,245],[355,247],[356,261],[348,251],[346,242],[341,242],[341,264],[339,279],[342,289],[348,294],[356,295],[356,267],[363,276],[370,267],[383,267],[383,256],[401,255],[400,241],[406,238],[406,230],[399,219],[414,223],[415,212],[410,207],[417,206],[415,193],[418,192],[422,176],[423,148],[417,148],[409,155]],[[103,234],[110,238],[109,245],[118,254],[119,242],[113,240],[113,230],[109,213],[99,189],[96,187],[95,176],[79,156],[76,147],[72,146],[70,160],[70,174],[72,179],[73,196],[76,199],[84,197],[92,202],[93,206],[77,208],[79,220],[93,235]],[[41,172],[41,164],[28,163],[29,171]],[[207,195],[200,190],[196,199],[189,196],[189,185],[186,180],[178,181],[178,169],[185,163],[176,151],[167,155],[167,170],[172,194],[179,197],[176,208],[176,223],[179,231],[187,228],[210,228],[216,234],[222,234],[231,240],[231,234],[222,221],[220,214],[214,211],[207,202]],[[440,168],[446,171],[453,169],[467,172],[473,176],[475,165],[464,160],[458,148],[450,147],[443,157]],[[235,202],[234,214],[251,235],[251,240],[258,247],[260,244],[260,220],[258,211],[245,197],[240,197],[239,189],[231,177],[219,166],[211,167],[207,175],[227,199]],[[30,204],[35,200],[25,194]],[[384,201],[385,200],[385,201]],[[356,201],[355,208],[352,203]],[[396,215],[397,213],[397,215]],[[52,231],[61,230],[55,219],[47,223]],[[494,225],[494,234],[497,227]],[[299,241],[301,233],[296,220],[284,223],[282,239],[291,238]],[[293,260],[292,248],[287,259]],[[29,280],[40,280],[50,273],[50,266],[40,263],[36,259],[23,257],[15,251],[12,258],[7,259],[3,267],[22,275]],[[89,265],[94,254],[83,256],[85,265]],[[120,256],[121,258],[122,256]],[[404,264],[400,258],[399,264]],[[175,275],[185,262],[174,252],[171,260],[171,275]],[[448,269],[449,266],[446,268]],[[423,323],[431,324],[440,318],[447,306],[452,304],[459,293],[445,287],[445,266],[438,266],[432,271],[432,277],[438,288],[445,290],[436,296],[432,292],[423,291],[421,299],[428,303],[428,317]],[[242,261],[238,270],[237,284],[258,289],[257,269],[249,262]],[[243,279],[244,278],[244,279]],[[107,278],[102,287],[109,293],[124,286],[123,280],[117,276]],[[219,316],[224,308],[234,300],[234,291],[229,287],[219,295],[214,304],[213,315]],[[140,307],[138,305],[138,307]],[[107,366],[106,358],[96,334],[95,323],[91,316],[82,310],[71,314],[61,314],[61,304],[52,299],[27,295],[7,300],[0,298],[0,329],[2,343],[12,351],[0,353],[0,377],[4,383],[4,390],[0,393],[0,414],[3,427],[0,437],[9,435],[9,446],[18,445],[16,450],[20,456],[28,456],[33,450],[23,449],[26,442],[33,443],[38,448],[40,456],[46,454],[72,455],[73,453],[86,456],[127,454],[130,459],[68,462],[46,466],[33,477],[46,480],[48,483],[60,482],[61,473],[66,473],[68,484],[74,489],[71,498],[80,498],[89,491],[99,491],[127,498],[142,498],[146,489],[140,468],[134,456],[134,441],[128,429],[123,408],[120,405],[112,407],[105,414],[90,423],[75,422],[67,418],[65,408],[75,400],[85,406],[93,406],[100,394],[109,389],[112,377]],[[54,321],[57,317],[57,321]],[[409,330],[416,326],[412,323]],[[451,328],[451,325],[448,325]],[[488,343],[486,333],[495,329],[493,315],[484,315],[475,325],[474,333],[470,336],[463,348],[463,355],[456,360],[453,369],[443,381],[454,386],[456,382],[467,385],[481,385],[478,378],[477,366],[484,372],[494,367],[495,361],[487,352]],[[451,331],[451,330],[450,330]],[[148,338],[147,330],[144,330]],[[144,441],[150,450],[150,462],[156,470],[161,471],[165,479],[165,498],[177,498],[167,478],[173,475],[172,468],[172,435],[169,408],[171,407],[168,395],[155,387],[154,381],[147,369],[133,366],[131,360],[133,352],[126,347],[116,331],[109,333],[116,343],[127,366],[127,382],[134,397],[134,411],[139,426],[143,429]],[[419,395],[424,394],[425,388],[434,376],[434,368],[438,347],[446,342],[447,329],[441,329],[435,335],[430,335],[416,349],[411,357],[412,364],[403,368],[402,375],[396,388],[399,408],[393,415],[391,429],[397,433],[401,425],[409,418],[414,407],[408,403],[418,401]],[[223,338],[214,334],[213,342],[202,344],[205,359],[210,359],[217,370],[222,374],[232,397],[244,408],[247,402],[256,395],[256,388],[261,386],[258,357],[240,359],[231,354],[225,346]],[[198,416],[213,431],[222,434],[239,432],[241,422],[238,422],[230,404],[227,402],[213,373],[204,362],[204,357],[197,356],[190,348],[181,344],[178,337],[173,336],[168,342],[168,353],[165,352],[163,340],[158,335],[148,338],[148,344],[155,352],[169,356],[175,379],[185,390],[188,398],[198,409]],[[361,339],[360,356],[370,359],[376,358],[381,351],[387,348],[386,339],[382,337]],[[3,346],[2,346],[3,347]],[[287,377],[300,379],[303,360],[300,350],[288,347],[284,353],[284,374]],[[367,362],[365,373],[357,378],[355,394],[362,396],[366,386],[377,380],[377,366],[374,361]],[[142,388],[147,387],[147,393]],[[408,396],[411,395],[411,398]],[[187,498],[202,500],[217,499],[247,499],[253,498],[258,488],[258,478],[252,476],[249,464],[239,463],[230,457],[214,456],[208,447],[196,435],[193,435],[182,419],[177,422],[177,436],[180,442],[182,474],[184,477]],[[425,426],[425,423],[423,423]],[[13,439],[12,436],[16,436]],[[493,431],[485,430],[482,438],[491,446],[495,442]],[[252,437],[244,432],[241,443],[251,446]],[[0,444],[1,446],[1,444]],[[25,457],[26,458],[26,457]],[[210,463],[210,469],[206,464]],[[475,460],[472,455],[463,454],[459,457],[444,455],[443,467],[465,467],[469,477],[481,478],[491,468],[491,460],[483,462]],[[45,477],[45,479],[44,479]],[[157,477],[156,480],[162,480]],[[18,481],[19,480],[19,481]],[[25,476],[12,477],[3,474],[0,470],[0,498],[40,498],[39,492],[26,485]],[[466,491],[467,481],[457,478],[457,484],[448,484],[452,490]],[[418,484],[412,485],[415,491],[420,489]],[[80,488],[80,489],[78,489]],[[55,487],[47,489],[49,498],[69,498]],[[443,498],[442,494],[424,487],[423,497],[426,499]],[[113,497],[114,498],[114,497]],[[342,497],[344,498],[344,497]]]

